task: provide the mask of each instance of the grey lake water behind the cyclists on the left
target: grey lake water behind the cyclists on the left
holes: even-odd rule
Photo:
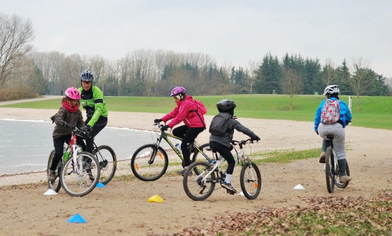
[[[54,149],[53,128],[51,122],[0,119],[0,175],[46,169],[49,153]],[[150,131],[106,126],[95,142],[112,147],[117,160],[124,160],[156,138]],[[162,146],[169,147],[166,142]]]

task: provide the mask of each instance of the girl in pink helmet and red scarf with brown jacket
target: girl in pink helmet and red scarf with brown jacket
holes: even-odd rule
[[[55,179],[54,174],[56,166],[64,153],[64,142],[69,143],[71,141],[71,133],[73,129],[68,127],[68,124],[86,129],[83,122],[82,112],[79,109],[79,100],[79,90],[74,87],[68,88],[61,101],[62,105],[54,118],[56,126],[54,127],[52,136],[55,153],[52,165],[49,167],[48,181],[53,181]],[[79,136],[77,137],[77,144],[80,145],[83,150],[86,149],[86,145]]]

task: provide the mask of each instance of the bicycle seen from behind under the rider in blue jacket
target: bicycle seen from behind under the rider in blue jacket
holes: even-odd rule
[[[335,138],[334,135],[326,135],[325,138],[331,141],[331,145],[327,147],[325,152],[325,179],[327,183],[327,189],[329,193],[333,193],[335,189],[335,185],[338,188],[344,189],[347,187],[348,182],[341,184],[339,182],[340,179],[340,172],[339,172],[339,165],[338,165],[338,158],[336,157],[333,139]],[[348,163],[346,160],[346,175],[350,176],[350,170],[348,168]]]

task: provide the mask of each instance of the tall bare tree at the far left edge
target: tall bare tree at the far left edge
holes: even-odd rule
[[[14,69],[24,66],[23,58],[33,46],[34,30],[30,19],[0,13],[0,87]]]

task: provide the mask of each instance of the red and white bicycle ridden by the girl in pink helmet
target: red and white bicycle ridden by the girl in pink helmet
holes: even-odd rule
[[[56,192],[63,186],[71,196],[84,196],[97,186],[100,174],[99,163],[91,153],[81,151],[76,144],[76,136],[84,137],[85,132],[75,125],[68,124],[68,126],[73,128],[71,142],[64,144],[66,151],[56,166],[55,179],[48,180],[48,186]],[[54,150],[49,155],[47,174],[53,157]]]

